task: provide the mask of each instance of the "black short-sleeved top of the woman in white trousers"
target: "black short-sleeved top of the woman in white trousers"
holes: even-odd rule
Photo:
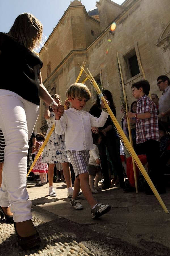
[[[10,36],[0,32],[0,89],[10,90],[40,105],[40,58]]]

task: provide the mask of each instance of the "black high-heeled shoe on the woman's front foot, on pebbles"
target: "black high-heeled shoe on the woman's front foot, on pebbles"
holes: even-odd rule
[[[38,232],[33,236],[21,237],[18,235],[16,231],[15,222],[14,222],[14,229],[15,229],[16,238],[18,240],[18,244],[21,246],[23,250],[33,248],[35,246],[38,246],[41,243],[41,238],[39,237]]]

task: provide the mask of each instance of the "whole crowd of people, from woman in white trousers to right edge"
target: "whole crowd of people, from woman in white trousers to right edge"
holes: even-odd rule
[[[26,188],[32,154],[38,154],[45,140],[42,133],[33,133],[40,98],[46,104],[46,136],[53,125],[55,129],[32,169],[40,177],[35,186],[41,187],[48,182],[49,196],[56,197],[53,180],[57,165],[57,170],[62,171],[62,179],[66,181],[70,205],[76,210],[83,209],[77,199],[83,193],[91,207],[93,219],[111,209],[109,204],[97,203],[93,194],[102,193],[111,184],[119,184],[124,192],[135,191],[132,158],[120,141],[101,98],[97,95],[95,104],[86,112],[83,109],[91,98],[86,85],[70,85],[64,106],[58,94],[50,95],[43,86],[40,71],[43,63],[33,51],[39,45],[41,36],[42,24],[30,13],[19,15],[8,34],[0,33],[0,215],[6,221],[14,222],[16,237],[23,249],[41,243],[32,223],[31,201]],[[12,84],[6,82],[9,73],[13,77]],[[150,84],[147,80],[132,85],[132,94],[137,101],[132,102],[127,113],[121,106],[122,129],[128,139],[129,133],[132,133],[134,150],[142,164],[147,166],[158,192],[166,193],[164,168],[169,160],[170,144],[169,78],[159,76],[157,85],[162,96],[159,99],[156,94],[151,94],[152,100],[148,98]],[[116,116],[112,93],[106,89],[102,93]],[[130,119],[130,131],[127,129],[127,118]],[[168,154],[164,154],[166,151]],[[70,165],[75,174],[74,189]],[[137,177],[139,171],[137,169]],[[125,186],[125,175],[128,186]],[[101,177],[104,179],[100,180]],[[152,194],[148,186],[145,192]]]

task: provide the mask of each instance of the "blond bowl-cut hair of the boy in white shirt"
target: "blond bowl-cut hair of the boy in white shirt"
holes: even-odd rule
[[[67,98],[85,98],[87,101],[91,98],[91,92],[85,84],[75,83],[70,85],[66,91]]]

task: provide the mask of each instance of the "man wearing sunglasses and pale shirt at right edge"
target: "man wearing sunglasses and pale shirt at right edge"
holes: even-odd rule
[[[167,76],[159,76],[157,79],[157,86],[162,92],[159,98],[159,114],[158,120],[170,123],[170,81]]]

